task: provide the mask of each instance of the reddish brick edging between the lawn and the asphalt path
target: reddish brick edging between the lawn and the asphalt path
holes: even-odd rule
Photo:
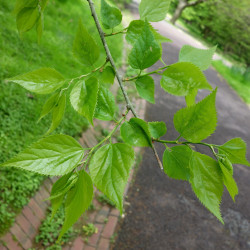
[[[144,117],[145,102],[143,100],[135,100],[135,106],[140,117]],[[130,118],[130,117],[128,117]],[[96,121],[95,127],[101,126],[104,129],[111,130],[114,124],[108,122]],[[79,139],[81,145],[85,147],[93,147],[97,144],[96,137],[98,132],[93,127],[89,128]],[[137,153],[139,150],[136,150]],[[131,171],[129,183],[132,179],[133,170]],[[9,232],[0,239],[0,250],[23,250],[34,249],[35,236],[38,233],[42,220],[46,217],[46,210],[50,205],[49,201],[44,201],[50,196],[50,190],[56,179],[48,178],[43,185],[30,200],[22,212],[16,217],[15,224],[10,228]],[[125,190],[128,191],[129,183]],[[98,191],[96,191],[98,194]],[[96,195],[95,195],[96,196]],[[103,205],[95,198],[93,200],[95,211],[89,213],[88,223],[93,223],[98,228],[98,233],[89,237],[88,243],[84,242],[81,236],[78,236],[73,242],[63,246],[63,249],[73,250],[108,250],[110,249],[110,241],[114,235],[117,222],[119,220],[119,211],[109,205]],[[35,248],[37,249],[37,248]],[[41,249],[41,248],[39,248]]]

